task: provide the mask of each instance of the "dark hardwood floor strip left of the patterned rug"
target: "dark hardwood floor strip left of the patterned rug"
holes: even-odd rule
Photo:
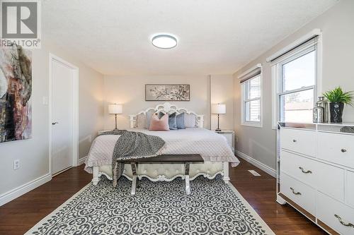
[[[84,171],[84,165],[74,167],[55,176],[51,181],[35,188],[0,207],[0,234],[24,234],[62,205],[72,195],[86,186],[92,175]]]

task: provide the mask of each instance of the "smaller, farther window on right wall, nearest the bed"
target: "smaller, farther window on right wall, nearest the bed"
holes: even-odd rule
[[[261,68],[241,77],[241,124],[244,126],[262,126],[262,80]]]

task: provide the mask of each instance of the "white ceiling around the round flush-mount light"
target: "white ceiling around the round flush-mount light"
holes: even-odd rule
[[[110,75],[234,73],[336,0],[46,0],[42,33]],[[173,49],[150,42],[178,36]]]

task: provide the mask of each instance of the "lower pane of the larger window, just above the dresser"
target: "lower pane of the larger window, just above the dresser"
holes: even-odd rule
[[[280,95],[280,120],[312,123],[314,90]]]

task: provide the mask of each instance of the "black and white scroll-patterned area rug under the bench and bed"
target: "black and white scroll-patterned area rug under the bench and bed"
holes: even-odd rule
[[[105,177],[89,183],[26,234],[274,234],[236,189],[221,177],[190,181],[131,181],[118,188]]]

